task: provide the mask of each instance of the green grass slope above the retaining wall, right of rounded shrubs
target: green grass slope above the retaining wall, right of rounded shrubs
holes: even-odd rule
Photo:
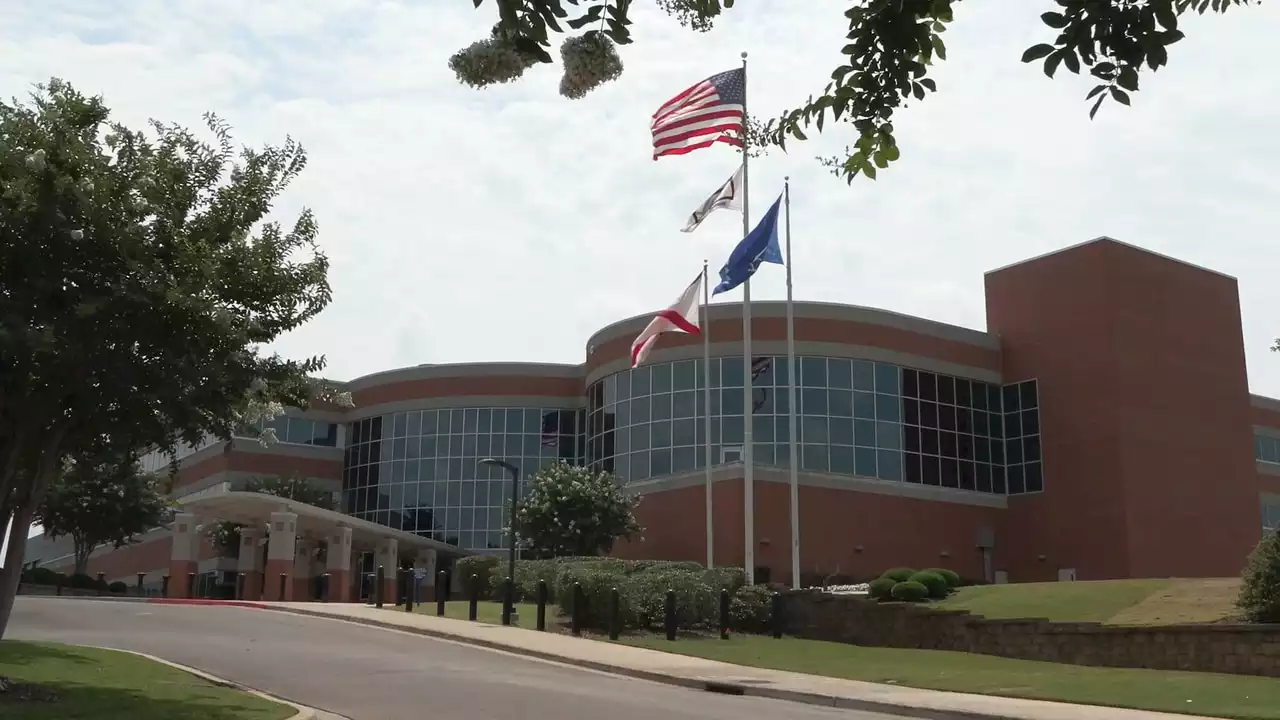
[[[1157,579],[975,585],[957,589],[934,607],[968,610],[986,618],[1047,618],[1060,623],[1106,623],[1121,611],[1165,591],[1172,583],[1175,580]]]

